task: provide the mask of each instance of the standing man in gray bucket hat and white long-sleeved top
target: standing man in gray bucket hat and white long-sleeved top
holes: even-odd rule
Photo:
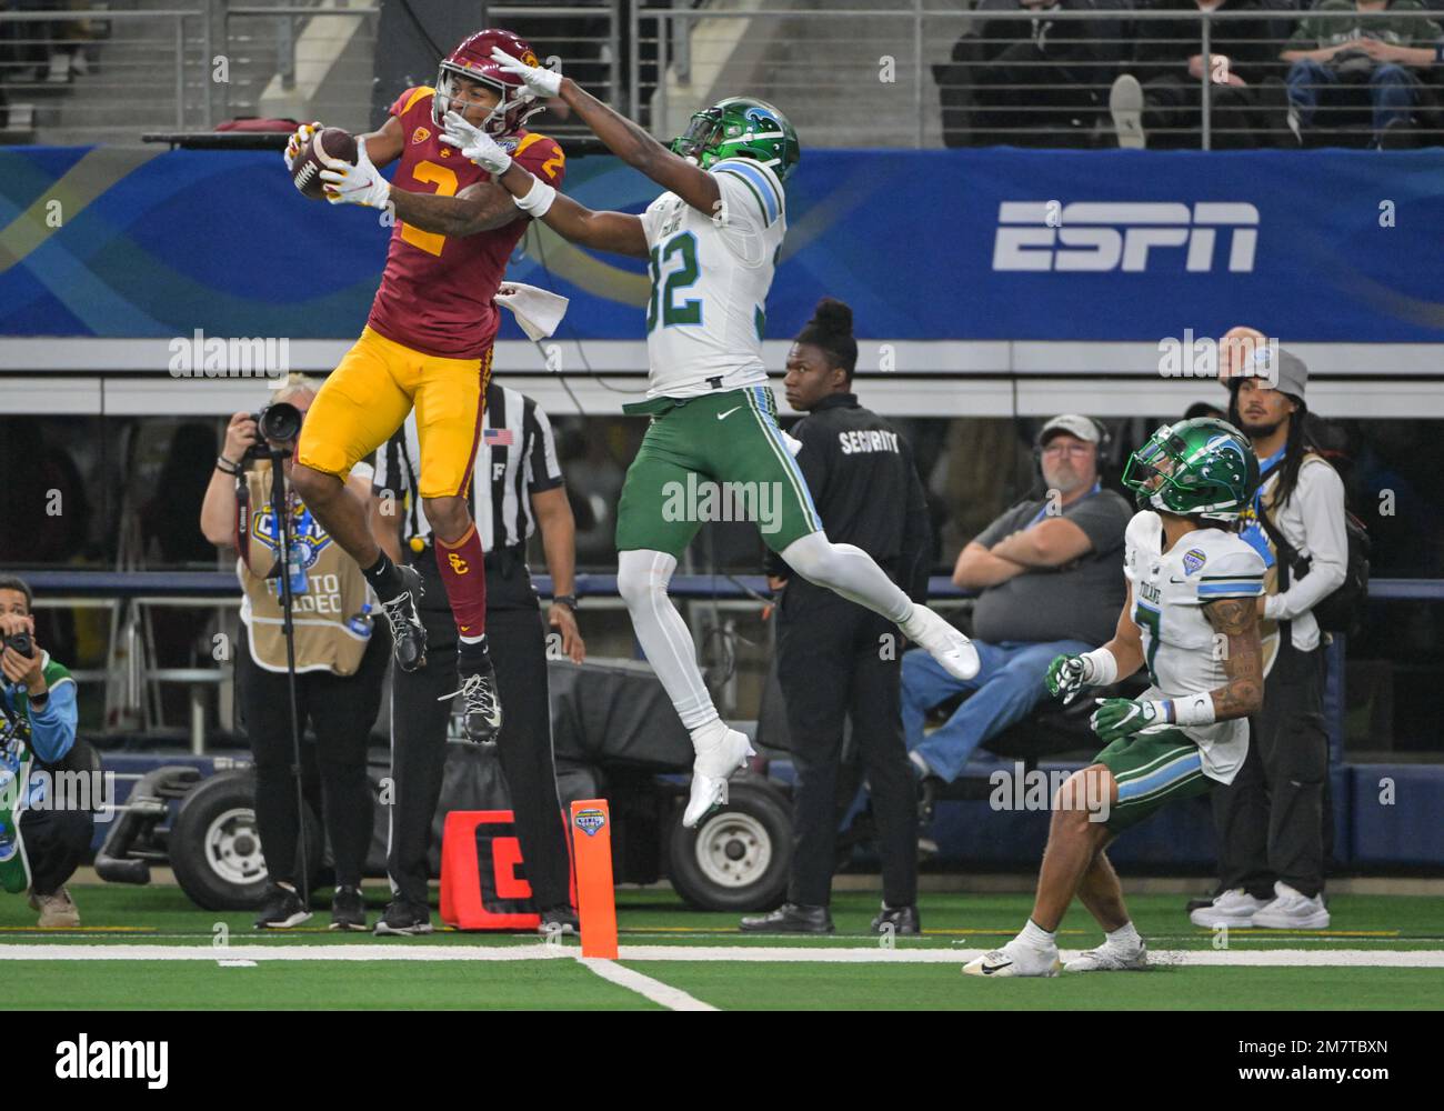
[[[1235,335],[1264,340],[1246,328],[1225,340]],[[1253,441],[1262,475],[1240,536],[1268,566],[1259,598],[1264,708],[1249,718],[1243,767],[1213,796],[1219,893],[1190,917],[1206,928],[1326,929],[1328,735],[1324,634],[1313,608],[1346,578],[1344,487],[1304,435],[1304,363],[1264,345],[1249,366],[1239,350],[1225,347],[1225,381],[1229,422]]]

